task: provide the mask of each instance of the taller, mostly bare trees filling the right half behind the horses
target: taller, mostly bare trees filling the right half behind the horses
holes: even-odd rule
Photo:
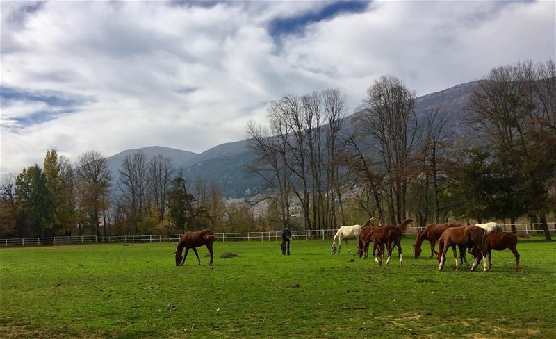
[[[261,200],[284,226],[334,228],[365,217],[400,224],[414,215],[419,226],[503,220],[514,229],[526,217],[550,238],[552,60],[491,69],[468,97],[461,133],[441,107],[417,116],[415,92],[395,77],[377,79],[347,119],[344,103],[339,90],[288,94],[270,104],[268,128],[247,125],[258,156],[250,171],[264,180]]]

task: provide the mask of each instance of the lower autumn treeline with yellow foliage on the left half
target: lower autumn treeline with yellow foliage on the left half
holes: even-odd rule
[[[139,235],[256,229],[243,204],[224,204],[216,185],[187,181],[170,158],[127,155],[113,174],[106,158],[88,151],[72,164],[48,150],[43,166],[8,174],[0,185],[0,236]]]

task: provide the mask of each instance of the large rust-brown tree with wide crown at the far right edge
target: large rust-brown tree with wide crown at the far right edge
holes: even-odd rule
[[[500,163],[500,175],[512,185],[509,206],[523,202],[530,214],[539,215],[545,238],[550,240],[546,222],[548,187],[555,181],[556,131],[552,126],[556,91],[552,62],[535,68],[531,62],[491,69],[480,81],[468,103],[468,124],[486,142],[493,159]],[[512,179],[513,178],[513,179]],[[516,180],[515,178],[520,178]]]

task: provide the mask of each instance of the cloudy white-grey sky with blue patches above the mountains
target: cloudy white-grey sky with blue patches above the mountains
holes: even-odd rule
[[[0,172],[246,138],[284,94],[382,75],[417,95],[556,59],[555,1],[0,3]]]

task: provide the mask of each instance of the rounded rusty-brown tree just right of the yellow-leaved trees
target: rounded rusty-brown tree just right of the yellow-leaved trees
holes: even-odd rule
[[[100,236],[100,213],[110,205],[107,197],[112,181],[106,158],[97,151],[85,152],[79,156],[76,176],[84,221],[88,222],[93,233]]]

